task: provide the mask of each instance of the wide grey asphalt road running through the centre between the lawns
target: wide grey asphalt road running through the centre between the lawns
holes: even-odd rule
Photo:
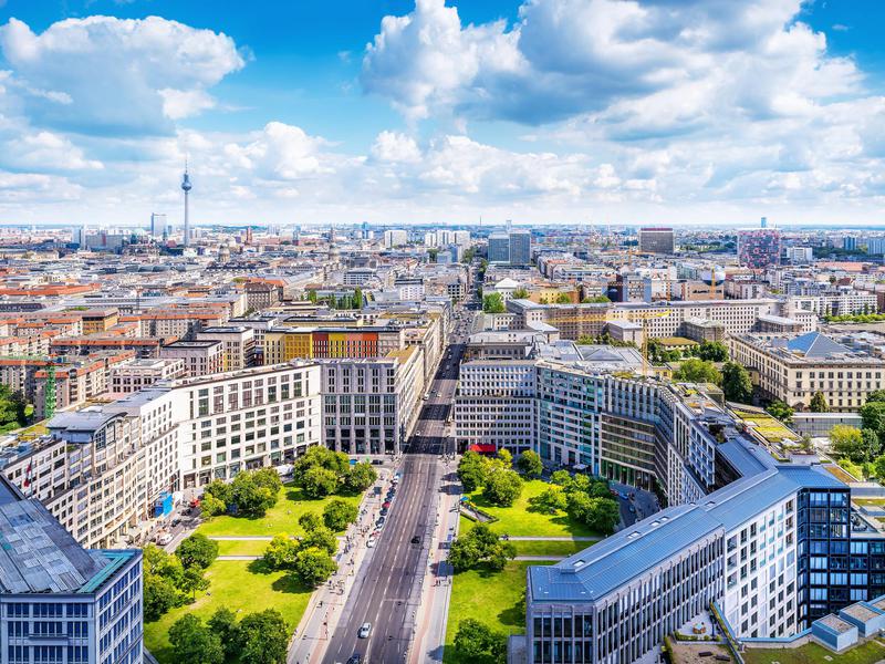
[[[404,452],[402,479],[387,522],[377,543],[369,549],[331,635],[324,662],[346,662],[355,653],[363,662],[404,662],[414,636],[414,619],[420,600],[420,583],[428,564],[430,532],[445,464],[454,454],[454,438],[446,421],[451,412],[464,336],[455,332],[428,392],[415,432]],[[417,536],[418,542],[412,540]],[[357,632],[371,623],[367,639]]]

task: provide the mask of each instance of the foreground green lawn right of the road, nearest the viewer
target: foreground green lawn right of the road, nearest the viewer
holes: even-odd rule
[[[522,634],[525,631],[525,568],[528,562],[508,562],[501,572],[470,570],[455,575],[449,602],[449,619],[446,624],[444,664],[470,664],[455,651],[455,634],[458,623],[472,618],[506,634]]]

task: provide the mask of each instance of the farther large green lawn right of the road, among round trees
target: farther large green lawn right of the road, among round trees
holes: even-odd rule
[[[482,511],[498,518],[498,521],[490,523],[490,527],[494,532],[501,535],[535,537],[597,535],[585,525],[572,521],[564,512],[553,516],[550,513],[531,511],[529,509],[529,500],[541,495],[549,486],[548,483],[540,479],[527,481],[522,489],[522,496],[519,497],[519,500],[517,500],[512,507],[494,507],[490,505],[482,497],[482,491],[470,494],[470,499]],[[472,521],[469,519],[461,519],[461,528],[464,529],[465,527],[472,527]]]

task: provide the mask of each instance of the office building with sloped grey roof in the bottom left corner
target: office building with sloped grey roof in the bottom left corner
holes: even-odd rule
[[[139,550],[83,549],[2,476],[0,535],[0,663],[142,663]]]

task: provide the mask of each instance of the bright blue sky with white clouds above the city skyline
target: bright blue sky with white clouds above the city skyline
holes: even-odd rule
[[[879,0],[0,0],[0,224],[885,224]]]

